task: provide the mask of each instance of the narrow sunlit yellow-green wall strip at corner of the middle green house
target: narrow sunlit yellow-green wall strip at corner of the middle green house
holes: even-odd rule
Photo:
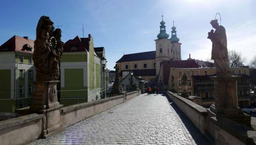
[[[89,88],[90,91],[95,89],[94,87],[94,81],[95,81],[95,76],[94,76],[94,45],[93,45],[93,38],[90,38],[90,45],[89,45],[89,75],[90,75],[90,82],[89,82]]]

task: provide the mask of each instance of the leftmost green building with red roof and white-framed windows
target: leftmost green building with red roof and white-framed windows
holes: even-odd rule
[[[13,36],[0,46],[0,120],[16,117],[15,109],[32,101],[34,40]]]

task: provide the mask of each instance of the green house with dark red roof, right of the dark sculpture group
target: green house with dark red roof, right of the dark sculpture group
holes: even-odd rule
[[[61,104],[73,105],[101,98],[103,57],[104,47],[94,48],[90,34],[88,38],[76,36],[64,44],[61,58]]]

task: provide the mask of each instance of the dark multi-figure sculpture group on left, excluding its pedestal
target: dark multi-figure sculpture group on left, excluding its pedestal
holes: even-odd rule
[[[58,80],[62,47],[61,29],[54,30],[53,22],[42,16],[36,28],[33,60],[37,81]]]

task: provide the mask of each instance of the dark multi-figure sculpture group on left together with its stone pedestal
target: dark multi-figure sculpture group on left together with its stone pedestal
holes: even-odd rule
[[[47,16],[42,16],[36,28],[33,60],[37,81],[30,111],[44,114],[43,137],[52,136],[66,127],[61,122],[60,105],[57,101],[57,83],[62,47],[61,29],[55,29]]]

